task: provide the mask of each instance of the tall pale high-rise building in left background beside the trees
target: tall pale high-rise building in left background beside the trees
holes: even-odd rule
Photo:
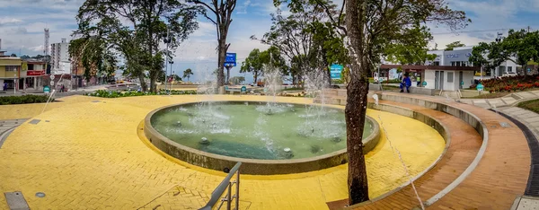
[[[66,38],[50,45],[50,63],[53,74],[70,74],[69,43]]]

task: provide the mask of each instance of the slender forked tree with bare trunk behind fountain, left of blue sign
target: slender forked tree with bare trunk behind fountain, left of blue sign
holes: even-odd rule
[[[202,13],[210,22],[216,25],[217,31],[217,85],[225,85],[225,57],[230,43],[226,44],[226,37],[228,36],[228,28],[232,22],[232,13],[236,5],[236,0],[221,0],[217,3],[217,0],[211,0],[211,3],[207,3],[205,0],[188,0],[195,4],[200,4],[206,7],[206,13]],[[215,18],[208,16],[208,11],[215,15]],[[230,71],[227,70],[227,75]]]

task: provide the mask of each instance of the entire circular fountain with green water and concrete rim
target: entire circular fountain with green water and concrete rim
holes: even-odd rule
[[[341,109],[256,101],[186,103],[146,116],[146,137],[181,161],[223,171],[243,162],[242,173],[317,171],[347,162],[346,124]],[[364,152],[379,139],[366,119]]]

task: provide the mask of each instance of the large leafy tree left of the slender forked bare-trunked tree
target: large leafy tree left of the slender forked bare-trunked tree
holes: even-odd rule
[[[172,57],[175,48],[198,28],[196,15],[200,9],[179,0],[86,0],[76,17],[79,28],[75,34],[99,39],[93,43],[103,42],[104,50],[111,54],[120,52],[126,58],[128,71],[138,74],[143,89],[144,72],[148,70],[150,91],[156,92],[155,81],[163,72],[163,58]],[[166,31],[170,31],[168,37],[164,36]],[[165,39],[172,50],[161,48]]]

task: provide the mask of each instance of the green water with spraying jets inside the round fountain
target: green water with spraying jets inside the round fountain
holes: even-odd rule
[[[151,123],[179,144],[231,157],[300,159],[346,148],[344,113],[321,106],[195,103],[162,109]],[[371,132],[371,122],[367,121],[363,136]]]

